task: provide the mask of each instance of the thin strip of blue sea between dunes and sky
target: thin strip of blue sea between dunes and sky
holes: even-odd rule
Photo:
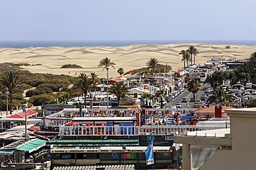
[[[86,46],[127,46],[133,44],[157,44],[165,45],[169,43],[215,43],[215,44],[225,44],[225,45],[256,45],[256,40],[156,40],[156,41],[0,41],[0,47],[12,47],[12,48],[24,48],[24,47],[86,47]]]

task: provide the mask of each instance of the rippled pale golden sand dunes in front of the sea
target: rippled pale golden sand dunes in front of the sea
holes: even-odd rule
[[[98,68],[99,61],[108,57],[116,63],[115,70],[109,69],[109,78],[118,77],[118,68],[122,67],[125,72],[146,67],[150,58],[156,58],[162,64],[171,65],[172,71],[183,67],[181,50],[187,50],[193,45],[199,50],[196,63],[205,63],[214,56],[224,59],[248,59],[250,54],[256,52],[256,45],[226,45],[206,43],[179,43],[168,45],[129,45],[122,47],[28,47],[28,48],[0,48],[0,63],[29,63],[23,66],[24,70],[33,73],[78,75],[81,72],[90,74],[95,72],[98,77],[106,77],[106,71]],[[38,65],[41,64],[41,65]],[[61,69],[65,64],[77,64],[82,69]]]

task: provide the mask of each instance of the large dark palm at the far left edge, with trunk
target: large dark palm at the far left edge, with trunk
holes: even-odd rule
[[[21,87],[22,84],[23,79],[21,79],[20,74],[13,70],[4,72],[0,75],[0,85],[6,87],[10,94],[10,114],[12,114],[12,94],[14,90]],[[6,105],[8,105],[8,103],[6,103]]]

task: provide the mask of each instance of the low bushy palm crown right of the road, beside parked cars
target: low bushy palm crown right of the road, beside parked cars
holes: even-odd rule
[[[208,98],[209,103],[226,104],[226,102],[232,101],[232,96],[222,88],[215,88],[210,94],[211,95]]]

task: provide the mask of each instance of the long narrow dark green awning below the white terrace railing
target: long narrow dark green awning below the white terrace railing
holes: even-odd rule
[[[138,139],[122,139],[122,140],[68,140],[54,139],[47,142],[47,145],[59,147],[102,147],[102,146],[137,146]]]

